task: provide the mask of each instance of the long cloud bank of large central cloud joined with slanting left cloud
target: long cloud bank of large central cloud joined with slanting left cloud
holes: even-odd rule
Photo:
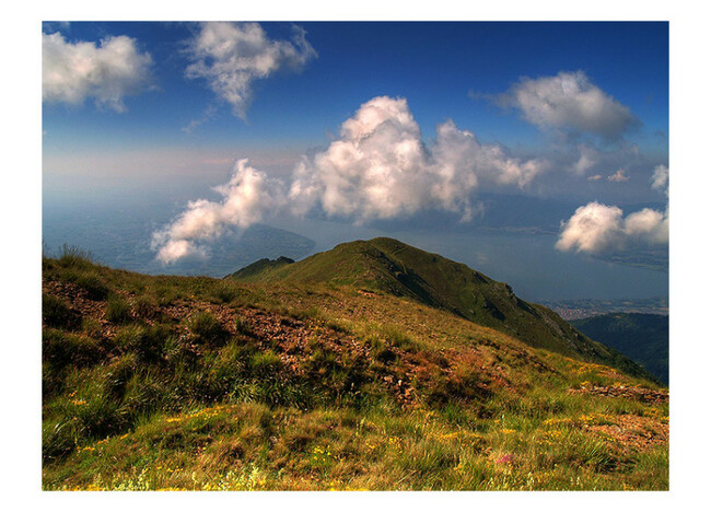
[[[451,120],[436,127],[428,147],[405,98],[374,97],[341,125],[327,149],[302,158],[289,187],[241,160],[230,183],[217,188],[223,199],[189,202],[154,233],[153,249],[166,264],[203,256],[206,244],[225,230],[280,210],[303,216],[320,208],[362,223],[436,208],[469,220],[479,186],[523,187],[546,168],[545,161],[516,159],[498,144],[479,142]]]

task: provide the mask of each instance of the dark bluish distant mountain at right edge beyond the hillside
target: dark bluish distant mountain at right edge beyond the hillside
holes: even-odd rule
[[[619,350],[661,382],[669,382],[669,317],[609,313],[571,322],[592,339]]]

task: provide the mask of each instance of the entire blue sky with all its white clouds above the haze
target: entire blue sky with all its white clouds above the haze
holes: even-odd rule
[[[151,237],[167,267],[277,216],[476,225],[482,194],[576,200],[560,252],[668,244],[664,22],[47,21],[42,40],[45,206],[182,190]]]

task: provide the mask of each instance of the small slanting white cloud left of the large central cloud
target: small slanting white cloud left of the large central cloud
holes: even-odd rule
[[[164,229],[153,233],[151,248],[164,264],[188,256],[207,257],[209,243],[225,231],[259,222],[266,211],[284,205],[283,186],[248,165],[236,162],[230,182],[215,187],[221,201],[198,199]]]

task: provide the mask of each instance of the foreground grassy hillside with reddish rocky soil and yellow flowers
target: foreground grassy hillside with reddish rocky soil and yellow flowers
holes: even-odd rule
[[[43,487],[668,489],[665,388],[473,322],[445,291],[498,283],[421,264],[245,282],[43,258]]]

